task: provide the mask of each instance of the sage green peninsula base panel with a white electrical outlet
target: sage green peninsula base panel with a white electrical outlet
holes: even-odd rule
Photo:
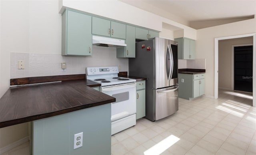
[[[33,155],[110,155],[111,103],[33,121]],[[74,149],[74,134],[83,132]]]

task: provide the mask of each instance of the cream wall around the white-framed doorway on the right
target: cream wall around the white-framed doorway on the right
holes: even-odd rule
[[[214,96],[214,38],[255,33],[255,20],[244,20],[197,30],[196,58],[206,59],[206,95]]]

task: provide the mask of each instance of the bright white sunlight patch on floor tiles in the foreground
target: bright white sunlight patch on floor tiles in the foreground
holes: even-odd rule
[[[144,151],[144,155],[160,155],[179,140],[180,139],[178,137],[170,135],[156,145],[150,147],[148,150]]]

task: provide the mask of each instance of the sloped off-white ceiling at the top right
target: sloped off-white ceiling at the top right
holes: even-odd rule
[[[120,0],[191,26],[193,22],[234,22],[254,18],[256,0]],[[220,22],[221,23],[221,22]],[[226,24],[225,23],[225,24]]]

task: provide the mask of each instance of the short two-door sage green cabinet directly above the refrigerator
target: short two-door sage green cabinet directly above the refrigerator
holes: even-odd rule
[[[148,40],[149,38],[159,37],[158,32],[136,27],[136,39]]]

